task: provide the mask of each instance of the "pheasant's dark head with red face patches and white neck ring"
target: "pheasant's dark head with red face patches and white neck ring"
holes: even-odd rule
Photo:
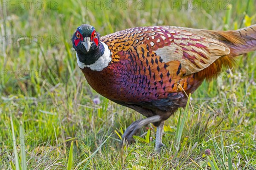
[[[72,41],[80,68],[89,67],[91,70],[101,71],[108,66],[111,61],[110,50],[100,41],[100,34],[93,26],[79,26],[73,34]]]

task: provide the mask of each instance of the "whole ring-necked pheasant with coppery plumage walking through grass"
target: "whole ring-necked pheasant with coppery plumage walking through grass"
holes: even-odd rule
[[[236,31],[149,26],[100,37],[93,26],[83,24],[72,41],[89,85],[146,117],[125,130],[123,141],[131,142],[138,129],[153,123],[159,151],[164,121],[186,106],[186,94],[221,68],[231,68],[235,56],[256,50],[256,25]]]

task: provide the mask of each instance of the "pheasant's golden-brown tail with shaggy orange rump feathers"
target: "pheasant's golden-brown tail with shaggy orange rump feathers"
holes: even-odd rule
[[[221,44],[227,45],[230,54],[223,55],[215,60],[209,67],[197,73],[198,77],[211,80],[216,77],[222,68],[233,68],[235,56],[256,50],[256,25],[241,28],[235,31],[209,31]]]

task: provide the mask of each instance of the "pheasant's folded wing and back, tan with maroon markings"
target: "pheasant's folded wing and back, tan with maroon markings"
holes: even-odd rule
[[[167,66],[172,65],[173,61],[179,61],[186,70],[184,75],[199,72],[221,56],[230,54],[227,45],[219,41],[213,32],[193,28],[137,27],[117,31],[101,40],[111,49],[112,62],[119,60],[119,51],[137,50],[144,56],[156,54]]]

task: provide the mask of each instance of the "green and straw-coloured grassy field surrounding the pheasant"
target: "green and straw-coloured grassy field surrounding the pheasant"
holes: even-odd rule
[[[1,170],[255,170],[256,52],[203,82],[188,109],[143,127],[139,113],[99,96],[76,64],[71,36],[83,23],[102,34],[135,26],[227,30],[256,23],[254,0],[1,1]],[[210,150],[210,151],[209,151]]]

